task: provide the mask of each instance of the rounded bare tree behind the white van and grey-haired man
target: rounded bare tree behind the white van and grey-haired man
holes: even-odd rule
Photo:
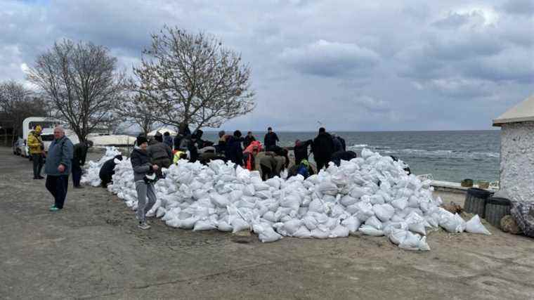
[[[124,75],[108,48],[63,40],[37,57],[28,79],[39,87],[54,112],[79,141],[105,122],[124,91]]]

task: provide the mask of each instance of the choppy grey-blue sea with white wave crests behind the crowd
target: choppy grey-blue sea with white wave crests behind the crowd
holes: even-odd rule
[[[306,141],[316,132],[276,132],[280,146],[292,146],[297,139]],[[393,155],[410,166],[413,174],[432,174],[434,180],[460,182],[499,180],[500,131],[377,131],[336,132],[345,139],[347,150],[358,156],[363,148]],[[246,134],[243,132],[243,134]],[[263,143],[265,132],[253,132]],[[204,139],[217,141],[216,131]]]

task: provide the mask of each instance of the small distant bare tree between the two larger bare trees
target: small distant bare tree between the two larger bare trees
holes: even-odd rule
[[[122,122],[129,125],[137,125],[145,136],[152,130],[156,120],[155,113],[148,106],[148,101],[141,93],[136,93],[128,99],[117,103],[115,113]]]

